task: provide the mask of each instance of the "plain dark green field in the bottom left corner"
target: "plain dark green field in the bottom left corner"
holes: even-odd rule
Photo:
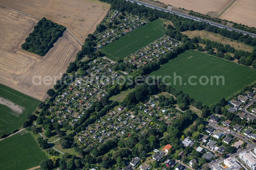
[[[47,159],[30,133],[20,134],[0,141],[0,169],[29,169]]]

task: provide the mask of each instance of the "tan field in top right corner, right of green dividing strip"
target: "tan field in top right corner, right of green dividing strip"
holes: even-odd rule
[[[256,27],[256,1],[236,0],[220,18]]]

